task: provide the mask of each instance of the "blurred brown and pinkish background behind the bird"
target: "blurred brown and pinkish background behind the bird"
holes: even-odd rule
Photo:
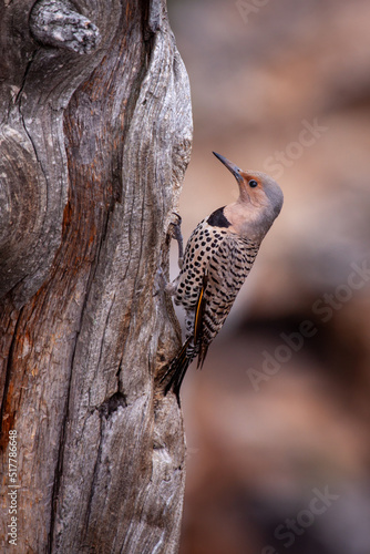
[[[194,110],[184,238],[237,197],[212,151],[285,193],[203,371],[183,384],[181,554],[369,554],[370,2],[168,10]]]

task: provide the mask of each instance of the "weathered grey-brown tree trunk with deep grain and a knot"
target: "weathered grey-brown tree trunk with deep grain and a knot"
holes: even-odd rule
[[[0,394],[19,552],[176,552],[184,433],[153,296],[189,157],[165,0],[0,7]],[[9,546],[9,544],[8,544]]]

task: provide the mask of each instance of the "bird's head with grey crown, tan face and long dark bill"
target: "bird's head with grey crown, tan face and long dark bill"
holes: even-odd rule
[[[224,209],[234,227],[230,230],[260,242],[281,211],[281,188],[265,173],[243,171],[220,154],[214,154],[233,173],[239,186],[238,199]]]

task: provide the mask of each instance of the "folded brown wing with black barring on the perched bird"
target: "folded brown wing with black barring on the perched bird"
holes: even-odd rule
[[[223,327],[257,252],[255,245],[230,233],[223,237],[209,259],[195,317],[198,367],[203,366],[210,342]]]

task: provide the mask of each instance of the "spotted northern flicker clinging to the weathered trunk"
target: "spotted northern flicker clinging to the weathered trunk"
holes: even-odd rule
[[[189,363],[197,356],[197,367],[203,366],[284,199],[268,175],[243,171],[214,154],[236,178],[239,197],[198,224],[187,242],[178,277],[166,287],[186,311],[186,340],[162,378],[165,393],[172,389],[177,401]]]

